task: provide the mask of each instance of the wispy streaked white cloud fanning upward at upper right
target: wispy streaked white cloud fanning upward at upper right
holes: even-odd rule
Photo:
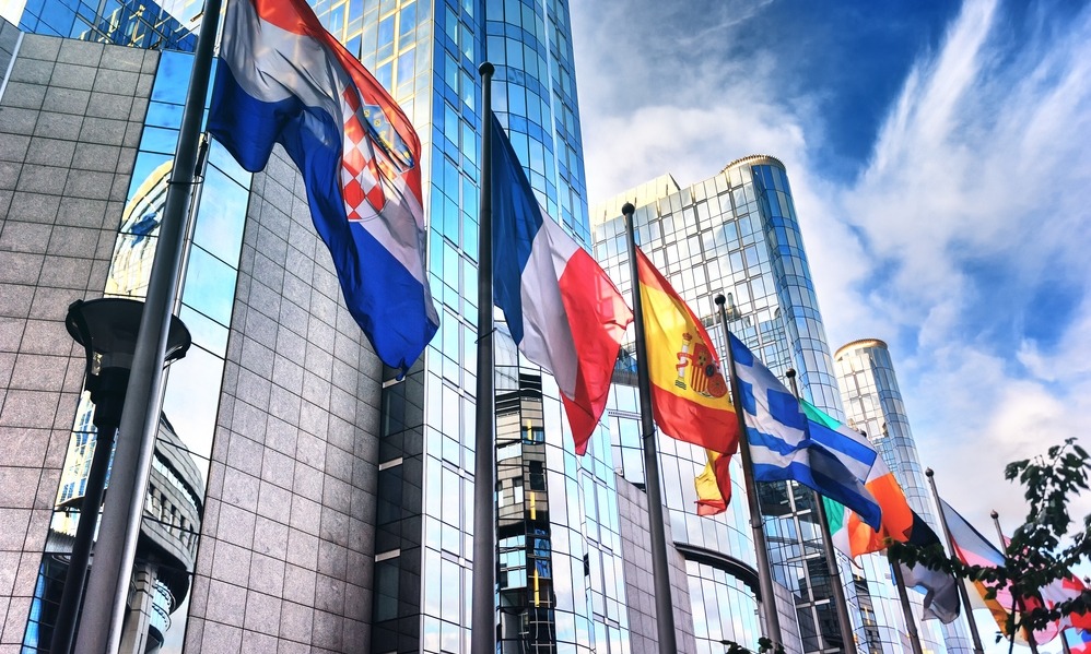
[[[841,198],[896,266],[902,301],[919,310],[949,297],[948,281],[972,264],[1031,281],[1078,251],[1077,198],[1091,171],[1088,13],[1068,38],[1012,51],[993,2],[967,2],[941,51],[914,69],[871,165]]]

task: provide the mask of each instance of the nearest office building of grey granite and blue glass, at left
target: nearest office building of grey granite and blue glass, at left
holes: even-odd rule
[[[196,26],[183,10],[165,11]],[[316,10],[422,136],[442,330],[404,379],[384,370],[341,304],[294,167],[274,156],[251,176],[212,143],[178,298],[195,347],[168,370],[164,396],[207,487],[196,569],[164,651],[466,649],[486,51],[494,108],[543,207],[589,243],[564,3]],[[83,359],[63,311],[146,285],[192,61],[165,17],[150,23],[159,36],[136,38],[149,25],[130,19],[159,9],[87,11],[28,4],[23,31],[4,25],[2,40],[0,353],[12,373],[0,407],[0,642],[28,650],[49,628],[36,593],[44,561],[63,556],[47,535],[64,510],[61,473],[80,463],[64,454],[85,457],[94,440],[77,418]],[[548,374],[503,338],[497,362],[503,647],[626,651],[629,597],[650,587],[643,564],[622,573],[625,552],[647,547],[640,513],[622,513],[641,498],[622,499],[608,444],[572,453]]]

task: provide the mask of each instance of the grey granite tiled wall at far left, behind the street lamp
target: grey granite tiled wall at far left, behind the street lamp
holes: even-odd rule
[[[83,387],[64,314],[102,296],[121,219],[115,195],[136,157],[120,143],[87,151],[84,115],[94,107],[139,134],[144,115],[131,108],[146,107],[146,94],[122,98],[114,80],[150,76],[159,59],[12,29],[0,25],[0,73],[10,71],[0,86],[0,652],[23,641]]]

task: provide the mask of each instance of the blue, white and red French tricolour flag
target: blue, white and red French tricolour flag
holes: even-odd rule
[[[556,379],[583,454],[633,312],[591,255],[542,215],[504,128],[495,116],[489,122],[493,299],[519,350]]]

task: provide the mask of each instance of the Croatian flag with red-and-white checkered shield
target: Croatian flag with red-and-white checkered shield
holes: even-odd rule
[[[412,124],[304,0],[232,0],[220,57],[209,132],[251,173],[284,146],[350,313],[407,370],[439,325]]]

